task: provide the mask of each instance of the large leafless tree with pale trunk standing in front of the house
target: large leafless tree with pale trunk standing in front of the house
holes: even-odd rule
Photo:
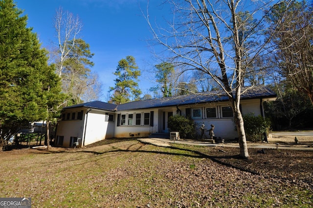
[[[173,55],[169,62],[184,66],[184,72],[207,73],[223,89],[233,110],[240,156],[248,158],[240,96],[247,66],[262,55],[268,44],[261,36],[263,31],[259,25],[263,22],[264,9],[272,6],[273,1],[171,0],[169,3],[174,14],[169,29],[156,28],[147,12],[146,20],[155,40]],[[242,12],[249,15],[243,16]],[[255,26],[247,27],[251,16],[258,20]],[[262,29],[267,28],[263,25]],[[225,41],[229,37],[230,40]],[[259,44],[249,44],[255,37],[259,39],[253,41]]]

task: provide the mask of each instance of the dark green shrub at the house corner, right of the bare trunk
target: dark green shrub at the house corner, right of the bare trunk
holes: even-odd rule
[[[262,116],[247,114],[243,116],[246,139],[250,141],[262,141],[264,133],[268,134],[270,129],[270,119]]]

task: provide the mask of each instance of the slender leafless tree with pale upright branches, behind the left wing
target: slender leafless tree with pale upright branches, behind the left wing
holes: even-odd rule
[[[61,77],[64,68],[64,62],[68,53],[75,46],[77,35],[80,33],[83,25],[78,16],[70,12],[64,12],[60,7],[55,15],[54,27],[58,39],[58,61],[56,73]]]

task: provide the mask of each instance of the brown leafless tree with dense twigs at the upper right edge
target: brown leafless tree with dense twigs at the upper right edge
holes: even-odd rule
[[[272,43],[280,73],[313,104],[313,3],[282,1],[270,11],[268,21],[278,23]]]

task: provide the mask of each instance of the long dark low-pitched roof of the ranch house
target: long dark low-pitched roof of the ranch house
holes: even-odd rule
[[[250,88],[243,88],[241,99],[251,99],[251,98],[273,98],[277,95],[269,90],[265,86],[257,86]],[[93,101],[83,104],[78,104],[74,106],[68,106],[68,108],[77,107],[88,107],[107,111],[125,111],[125,110],[136,110],[136,109],[149,109],[149,108],[159,108],[159,107],[170,107],[177,105],[191,105],[191,104],[201,104],[210,102],[221,102],[227,101],[228,97],[225,92],[215,91],[215,92],[203,92],[201,94],[188,94],[180,95],[174,97],[163,97],[150,100],[140,100],[130,103],[125,103],[121,105],[114,105],[110,103],[105,103],[101,101]]]

